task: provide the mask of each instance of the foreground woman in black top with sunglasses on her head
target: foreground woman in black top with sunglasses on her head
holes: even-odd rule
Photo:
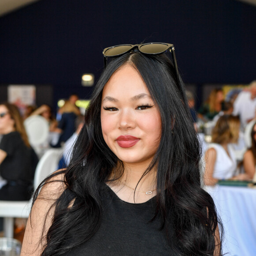
[[[72,159],[36,191],[21,255],[222,255],[173,45],[103,55]]]

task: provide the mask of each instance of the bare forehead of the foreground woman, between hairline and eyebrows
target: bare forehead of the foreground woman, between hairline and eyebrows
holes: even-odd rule
[[[137,94],[149,94],[139,72],[130,65],[118,69],[105,84],[102,98],[111,94],[115,98],[128,98]]]

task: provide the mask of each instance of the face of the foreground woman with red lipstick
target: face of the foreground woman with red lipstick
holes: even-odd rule
[[[161,117],[139,73],[129,65],[106,83],[101,105],[102,134],[124,163],[149,164],[161,138]]]

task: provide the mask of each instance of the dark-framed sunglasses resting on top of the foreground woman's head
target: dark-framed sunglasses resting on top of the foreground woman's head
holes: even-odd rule
[[[170,51],[173,56],[173,64],[174,64],[175,73],[176,73],[176,81],[179,85],[179,73],[178,73],[177,61],[176,61],[176,56],[174,51],[174,45],[172,44],[147,43],[147,44],[141,44],[141,45],[115,45],[115,46],[105,48],[103,50],[104,68],[107,65],[107,58],[119,57],[125,53],[131,53],[133,49],[136,49],[136,48],[139,50],[140,53],[143,53],[145,55],[160,55],[162,53],[166,53],[167,51]]]

